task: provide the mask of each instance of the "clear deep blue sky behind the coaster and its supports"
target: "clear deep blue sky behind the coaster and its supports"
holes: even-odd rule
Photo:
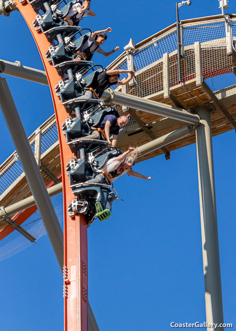
[[[111,26],[110,51],[175,22],[174,1],[95,1],[92,30]],[[236,4],[230,1],[230,13]],[[193,0],[180,19],[220,14],[217,0]],[[21,15],[0,17],[0,58],[43,69]],[[116,53],[118,56],[119,53]],[[94,57],[104,66],[116,57]],[[2,75],[3,76],[3,75]],[[7,77],[26,132],[53,114],[48,87]],[[0,114],[0,164],[15,150]],[[236,325],[235,131],[213,138],[224,319]],[[172,330],[171,322],[204,322],[205,298],[196,145],[135,166],[152,181],[123,176],[115,188],[124,202],[88,229],[89,300],[100,331]],[[63,330],[62,275],[47,236],[1,262],[1,328]],[[4,312],[4,313],[3,313]]]

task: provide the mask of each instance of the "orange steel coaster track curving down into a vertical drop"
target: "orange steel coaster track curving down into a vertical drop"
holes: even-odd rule
[[[69,217],[67,212],[67,206],[74,199],[74,194],[69,187],[65,164],[73,158],[73,153],[66,144],[65,137],[60,129],[65,118],[68,117],[54,89],[60,80],[60,76],[45,57],[45,52],[48,50],[50,43],[41,31],[37,32],[35,30],[32,24],[37,13],[27,2],[21,4],[19,0],[16,0],[16,5],[33,35],[43,61],[58,126],[64,207],[64,330],[86,331],[88,330],[88,301],[86,302],[82,298],[82,291],[83,288],[88,289],[88,276],[86,274],[86,277],[83,277],[82,284],[82,269],[83,265],[88,264],[87,222],[84,215]]]

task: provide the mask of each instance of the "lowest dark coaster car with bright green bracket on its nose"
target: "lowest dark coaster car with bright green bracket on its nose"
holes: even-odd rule
[[[99,221],[110,217],[111,204],[118,199],[118,194],[114,190],[109,176],[105,174],[102,184],[83,183],[80,181],[92,179],[101,172],[99,168],[102,168],[109,158],[116,157],[121,153],[114,147],[107,147],[95,156],[89,153],[86,160],[84,149],[81,149],[80,159],[76,160],[73,158],[66,165],[67,174],[70,178],[70,187],[72,187],[74,195],[78,197],[73,199],[68,206],[68,212],[71,217],[77,213],[86,214],[88,224],[92,223],[96,217],[98,217]],[[113,189],[112,191],[111,188]]]

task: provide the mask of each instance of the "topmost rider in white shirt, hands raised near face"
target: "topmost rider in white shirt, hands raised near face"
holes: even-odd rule
[[[72,5],[69,13],[66,15],[70,24],[74,25],[86,16],[96,16],[96,14],[90,9],[90,5],[90,0],[83,0],[82,4],[80,1]]]

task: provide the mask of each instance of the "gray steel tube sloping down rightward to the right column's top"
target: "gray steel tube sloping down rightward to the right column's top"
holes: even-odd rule
[[[199,117],[195,114],[188,113],[185,109],[165,105],[153,100],[143,99],[136,97],[135,95],[113,91],[111,89],[105,90],[101,99],[106,103],[131,107],[147,113],[174,118],[194,125],[199,123]]]

